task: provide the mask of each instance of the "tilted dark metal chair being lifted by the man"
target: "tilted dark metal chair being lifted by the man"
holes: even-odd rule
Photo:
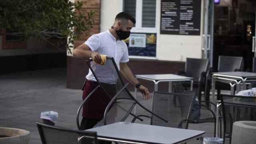
[[[92,74],[94,75],[94,78],[96,79],[98,86],[86,97],[86,99],[82,102],[80,107],[78,108],[78,113],[76,116],[76,123],[78,126],[78,129],[80,129],[80,124],[79,124],[79,115],[80,115],[80,110],[84,104],[86,104],[86,101],[92,96],[94,91],[97,88],[102,88],[106,95],[109,97],[110,102],[108,103],[108,106],[106,106],[105,113],[103,119],[96,124],[95,127],[97,126],[102,126],[106,124],[111,124],[114,122],[123,122],[128,118],[128,116],[136,117],[143,121],[142,118],[139,118],[135,114],[132,113],[132,110],[136,104],[138,104],[141,108],[146,110],[147,112],[153,114],[154,116],[162,119],[164,122],[168,122],[167,120],[164,120],[160,116],[154,114],[147,108],[145,108],[132,94],[128,91],[127,86],[128,84],[124,84],[124,81],[122,80],[122,77],[119,73],[118,66],[116,65],[114,58],[107,57],[106,64],[105,65],[98,65],[95,64],[92,60],[86,61],[88,64]],[[99,73],[95,73],[94,71],[97,69],[100,69],[101,71]],[[112,72],[113,76],[112,78],[108,78],[109,80],[116,79],[118,80],[118,84],[116,86],[116,94],[112,94],[108,92],[108,89],[106,89],[106,86],[104,86],[104,83],[101,82],[100,78],[104,76],[104,72]],[[114,74],[115,73],[115,74]]]

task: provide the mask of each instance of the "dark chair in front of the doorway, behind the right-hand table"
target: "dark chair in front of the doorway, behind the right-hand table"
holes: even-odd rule
[[[218,69],[210,68],[206,75],[205,100],[210,100],[210,88],[212,86],[213,72],[234,72],[242,71],[244,68],[243,57],[236,56],[219,56]],[[217,90],[217,100],[220,99],[220,90],[230,90],[230,84],[216,82],[215,89]]]

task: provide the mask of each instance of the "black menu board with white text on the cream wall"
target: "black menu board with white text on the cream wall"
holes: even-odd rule
[[[200,35],[201,0],[161,0],[161,34]]]

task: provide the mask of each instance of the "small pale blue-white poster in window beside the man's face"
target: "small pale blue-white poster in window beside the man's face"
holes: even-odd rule
[[[146,48],[146,34],[130,34],[129,47]]]

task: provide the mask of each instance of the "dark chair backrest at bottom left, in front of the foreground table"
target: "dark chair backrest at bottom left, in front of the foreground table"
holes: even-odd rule
[[[42,144],[98,144],[97,133],[36,123]]]

